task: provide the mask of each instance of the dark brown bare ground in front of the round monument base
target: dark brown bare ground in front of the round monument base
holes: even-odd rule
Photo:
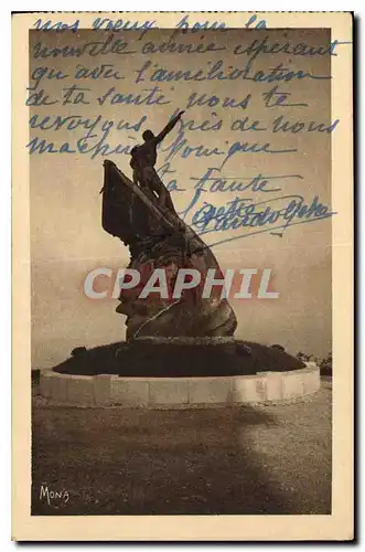
[[[194,411],[34,396],[32,513],[330,513],[331,388],[323,379],[292,404]],[[41,485],[69,499],[49,505]]]

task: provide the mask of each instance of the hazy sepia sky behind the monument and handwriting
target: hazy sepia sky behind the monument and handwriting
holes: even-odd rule
[[[300,174],[302,179],[288,178],[276,181],[281,190],[270,194],[256,192],[254,199],[264,201],[282,195],[301,194],[311,203],[314,195],[322,203],[331,200],[331,135],[326,132],[272,134],[272,120],[283,115],[291,121],[302,120],[330,124],[331,121],[331,81],[294,79],[289,83],[255,83],[253,81],[205,81],[179,83],[136,84],[137,71],[150,60],[157,66],[169,71],[202,68],[206,71],[208,63],[222,60],[225,66],[244,67],[248,57],[235,55],[237,44],[248,45],[254,40],[261,41],[267,35],[270,43],[305,42],[315,46],[328,45],[330,35],[326,30],[265,30],[226,32],[205,32],[176,36],[176,42],[215,43],[225,50],[202,54],[142,54],[146,42],[161,43],[171,36],[171,30],[150,31],[144,36],[140,32],[118,33],[117,38],[128,41],[133,54],[107,54],[82,57],[44,57],[34,59],[34,45],[41,41],[47,47],[65,45],[83,45],[90,41],[105,41],[107,32],[79,31],[30,32],[30,75],[36,67],[43,66],[62,71],[68,75],[62,79],[43,79],[39,88],[43,88],[50,98],[61,98],[62,88],[72,86],[77,65],[88,68],[101,64],[112,64],[124,78],[120,79],[78,79],[79,86],[90,88],[87,93],[87,105],[62,105],[58,102],[49,106],[31,107],[30,116],[72,116],[103,120],[125,120],[137,123],[147,116],[148,120],[139,132],[117,130],[112,128],[107,141],[116,147],[118,144],[135,145],[146,128],[158,132],[169,120],[175,109],[184,109],[192,93],[197,95],[216,95],[219,98],[234,97],[241,100],[248,94],[251,99],[247,109],[240,107],[222,108],[194,106],[186,110],[184,123],[194,120],[216,121],[222,119],[222,129],[212,131],[185,130],[190,146],[203,145],[206,148],[227,149],[235,141],[270,142],[272,149],[298,149],[293,153],[237,153],[229,159],[221,171],[222,178],[247,179],[258,173],[265,176]],[[268,72],[282,63],[292,71],[304,71],[315,75],[330,74],[330,56],[293,56],[286,53],[262,54],[255,60],[256,71]],[[79,67],[78,67],[79,68]],[[149,73],[151,75],[151,72]],[[32,79],[30,78],[30,82]],[[275,85],[280,92],[291,94],[290,102],[308,104],[296,107],[265,107],[262,93]],[[100,106],[96,98],[110,87],[120,93],[143,93],[143,89],[159,86],[169,104],[161,106],[110,105]],[[173,88],[173,89],[172,89]],[[213,115],[216,114],[216,115]],[[259,120],[267,130],[234,131],[232,124],[236,119],[249,117]],[[50,119],[51,120],[51,119]],[[189,126],[189,125],[187,125]],[[180,128],[176,127],[165,139],[163,148],[175,140]],[[95,132],[101,137],[100,127]],[[41,137],[61,147],[65,141],[75,145],[86,130],[61,129],[57,131],[31,129],[30,138]],[[95,138],[97,140],[97,138]],[[227,142],[227,144],[226,144]],[[160,151],[158,167],[167,161],[168,151]],[[130,176],[129,157],[126,155],[108,155],[118,167]],[[90,300],[83,293],[86,274],[98,266],[107,266],[115,270],[128,264],[129,253],[126,247],[100,225],[103,187],[103,156],[92,159],[89,155],[79,153],[43,153],[30,156],[31,170],[31,255],[32,255],[32,364],[36,368],[52,367],[68,357],[74,347],[94,347],[124,339],[125,318],[115,312],[118,301],[115,299]],[[194,180],[210,167],[218,166],[219,159],[195,158],[182,159],[178,152],[170,160],[170,169],[175,171],[181,192],[172,192],[178,211],[186,209],[193,197]],[[221,159],[222,162],[222,159]],[[164,178],[167,183],[170,178]],[[204,192],[196,208],[203,201],[216,206],[224,205],[235,198],[232,192]],[[253,192],[239,192],[240,198],[253,198]],[[279,203],[278,203],[279,205]],[[282,204],[280,204],[282,206]],[[187,216],[186,222],[191,222]],[[211,233],[206,243],[214,243],[233,237],[236,232]],[[311,224],[302,224],[288,229],[282,237],[262,233],[241,237],[214,247],[214,253],[222,268],[271,268],[272,287],[280,293],[276,300],[249,299],[234,301],[238,317],[236,337],[261,343],[280,343],[290,352],[299,350],[324,355],[331,350],[331,220]],[[255,287],[255,286],[254,286]]]

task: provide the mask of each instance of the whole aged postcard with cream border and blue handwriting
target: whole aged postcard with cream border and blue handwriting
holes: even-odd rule
[[[15,14],[12,55],[13,538],[351,540],[352,15]]]

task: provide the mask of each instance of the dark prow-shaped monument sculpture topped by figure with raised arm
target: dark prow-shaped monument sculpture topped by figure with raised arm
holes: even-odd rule
[[[237,319],[222,288],[202,296],[208,269],[222,277],[211,248],[179,217],[170,192],[154,164],[157,146],[173,129],[180,112],[157,136],[143,132],[143,144],[131,150],[132,181],[110,160],[104,162],[103,229],[119,237],[130,251],[128,268],[140,274],[140,285],[121,289],[117,312],[127,317],[127,340],[136,337],[233,336]],[[158,294],[140,297],[141,286],[154,269],[165,270],[169,297]],[[181,297],[170,293],[180,268],[194,268],[201,284],[184,289]]]

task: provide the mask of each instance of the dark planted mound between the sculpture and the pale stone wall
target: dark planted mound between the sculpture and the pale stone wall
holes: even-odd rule
[[[75,349],[55,372],[130,378],[204,378],[253,375],[304,368],[303,362],[272,347],[233,337],[138,338],[96,349]]]

